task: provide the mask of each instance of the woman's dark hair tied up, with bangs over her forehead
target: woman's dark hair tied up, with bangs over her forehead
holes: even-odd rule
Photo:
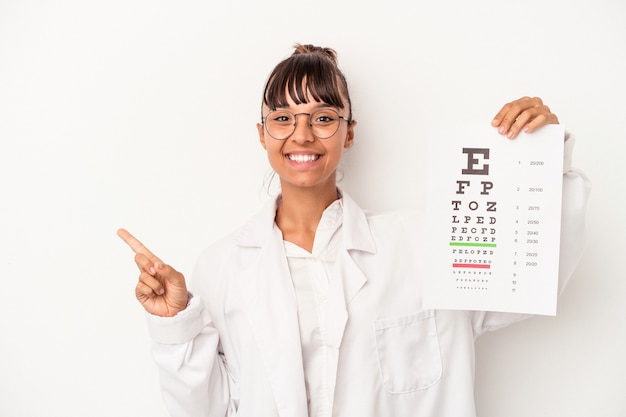
[[[314,45],[294,46],[291,56],[281,61],[270,74],[263,104],[272,110],[287,107],[287,92],[296,104],[308,103],[310,93],[314,100],[343,109],[347,101],[348,122],[352,121],[352,102],[348,83],[337,66],[337,53],[330,48]]]

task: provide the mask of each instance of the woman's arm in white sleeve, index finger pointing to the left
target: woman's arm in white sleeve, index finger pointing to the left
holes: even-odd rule
[[[184,276],[124,229],[117,234],[135,252],[135,296],[146,309],[161,393],[172,417],[225,417],[236,412],[220,338]]]

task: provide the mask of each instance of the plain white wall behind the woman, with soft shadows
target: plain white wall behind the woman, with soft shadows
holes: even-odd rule
[[[479,415],[626,415],[626,3],[0,0],[0,415],[165,416],[124,226],[182,271],[266,200],[255,123],[295,42],[337,49],[346,188],[424,205],[425,132],[539,95],[593,181],[554,317],[478,342]]]

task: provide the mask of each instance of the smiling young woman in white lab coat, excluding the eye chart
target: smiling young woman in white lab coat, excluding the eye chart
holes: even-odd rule
[[[538,98],[492,122],[557,117]],[[127,231],[172,416],[472,416],[474,340],[524,316],[422,308],[425,219],[365,213],[337,188],[355,138],[335,52],[297,45],[271,73],[259,139],[281,194],[200,257],[189,282]],[[560,280],[582,248],[586,178],[565,138]]]

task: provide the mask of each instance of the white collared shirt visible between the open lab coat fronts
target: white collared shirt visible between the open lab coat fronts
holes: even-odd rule
[[[337,272],[337,252],[342,225],[341,200],[322,214],[315,232],[313,250],[284,241],[285,254],[298,305],[302,361],[310,417],[332,415],[337,376],[338,346],[328,340],[328,291]]]

